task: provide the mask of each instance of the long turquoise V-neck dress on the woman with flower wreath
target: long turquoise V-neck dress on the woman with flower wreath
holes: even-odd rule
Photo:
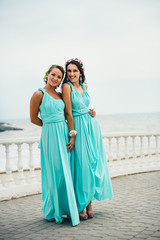
[[[83,84],[83,96],[72,89],[72,115],[74,129],[78,132],[71,153],[72,178],[78,211],[81,212],[91,200],[112,199],[113,192],[101,130],[96,117],[88,113],[90,96]]]

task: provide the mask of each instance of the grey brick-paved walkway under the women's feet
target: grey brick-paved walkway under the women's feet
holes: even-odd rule
[[[47,222],[41,195],[0,203],[0,239],[160,239],[160,171],[112,179],[114,199],[94,201],[95,217],[76,227]]]

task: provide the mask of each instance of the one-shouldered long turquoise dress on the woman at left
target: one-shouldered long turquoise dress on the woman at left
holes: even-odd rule
[[[42,104],[39,107],[43,122],[39,143],[41,150],[41,178],[43,215],[47,220],[63,221],[67,215],[72,225],[79,224],[70,171],[70,154],[67,153],[68,126],[64,117],[64,102],[54,99],[43,88]]]

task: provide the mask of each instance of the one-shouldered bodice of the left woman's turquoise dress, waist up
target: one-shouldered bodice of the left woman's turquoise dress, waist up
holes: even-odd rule
[[[39,88],[38,90],[44,93],[42,104],[39,107],[40,117],[43,121],[43,124],[64,121],[65,105],[63,100],[54,99],[43,88]]]

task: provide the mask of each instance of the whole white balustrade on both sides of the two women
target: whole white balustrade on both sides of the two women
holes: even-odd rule
[[[41,192],[38,142],[0,140],[0,200]],[[160,170],[160,134],[103,134],[103,142],[111,177]]]

